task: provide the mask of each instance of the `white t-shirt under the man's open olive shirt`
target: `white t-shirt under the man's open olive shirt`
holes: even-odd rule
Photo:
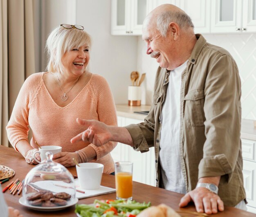
[[[166,99],[161,113],[161,140],[159,161],[162,167],[164,188],[177,193],[186,193],[186,186],[180,167],[180,89],[181,75],[187,61],[171,70]]]

